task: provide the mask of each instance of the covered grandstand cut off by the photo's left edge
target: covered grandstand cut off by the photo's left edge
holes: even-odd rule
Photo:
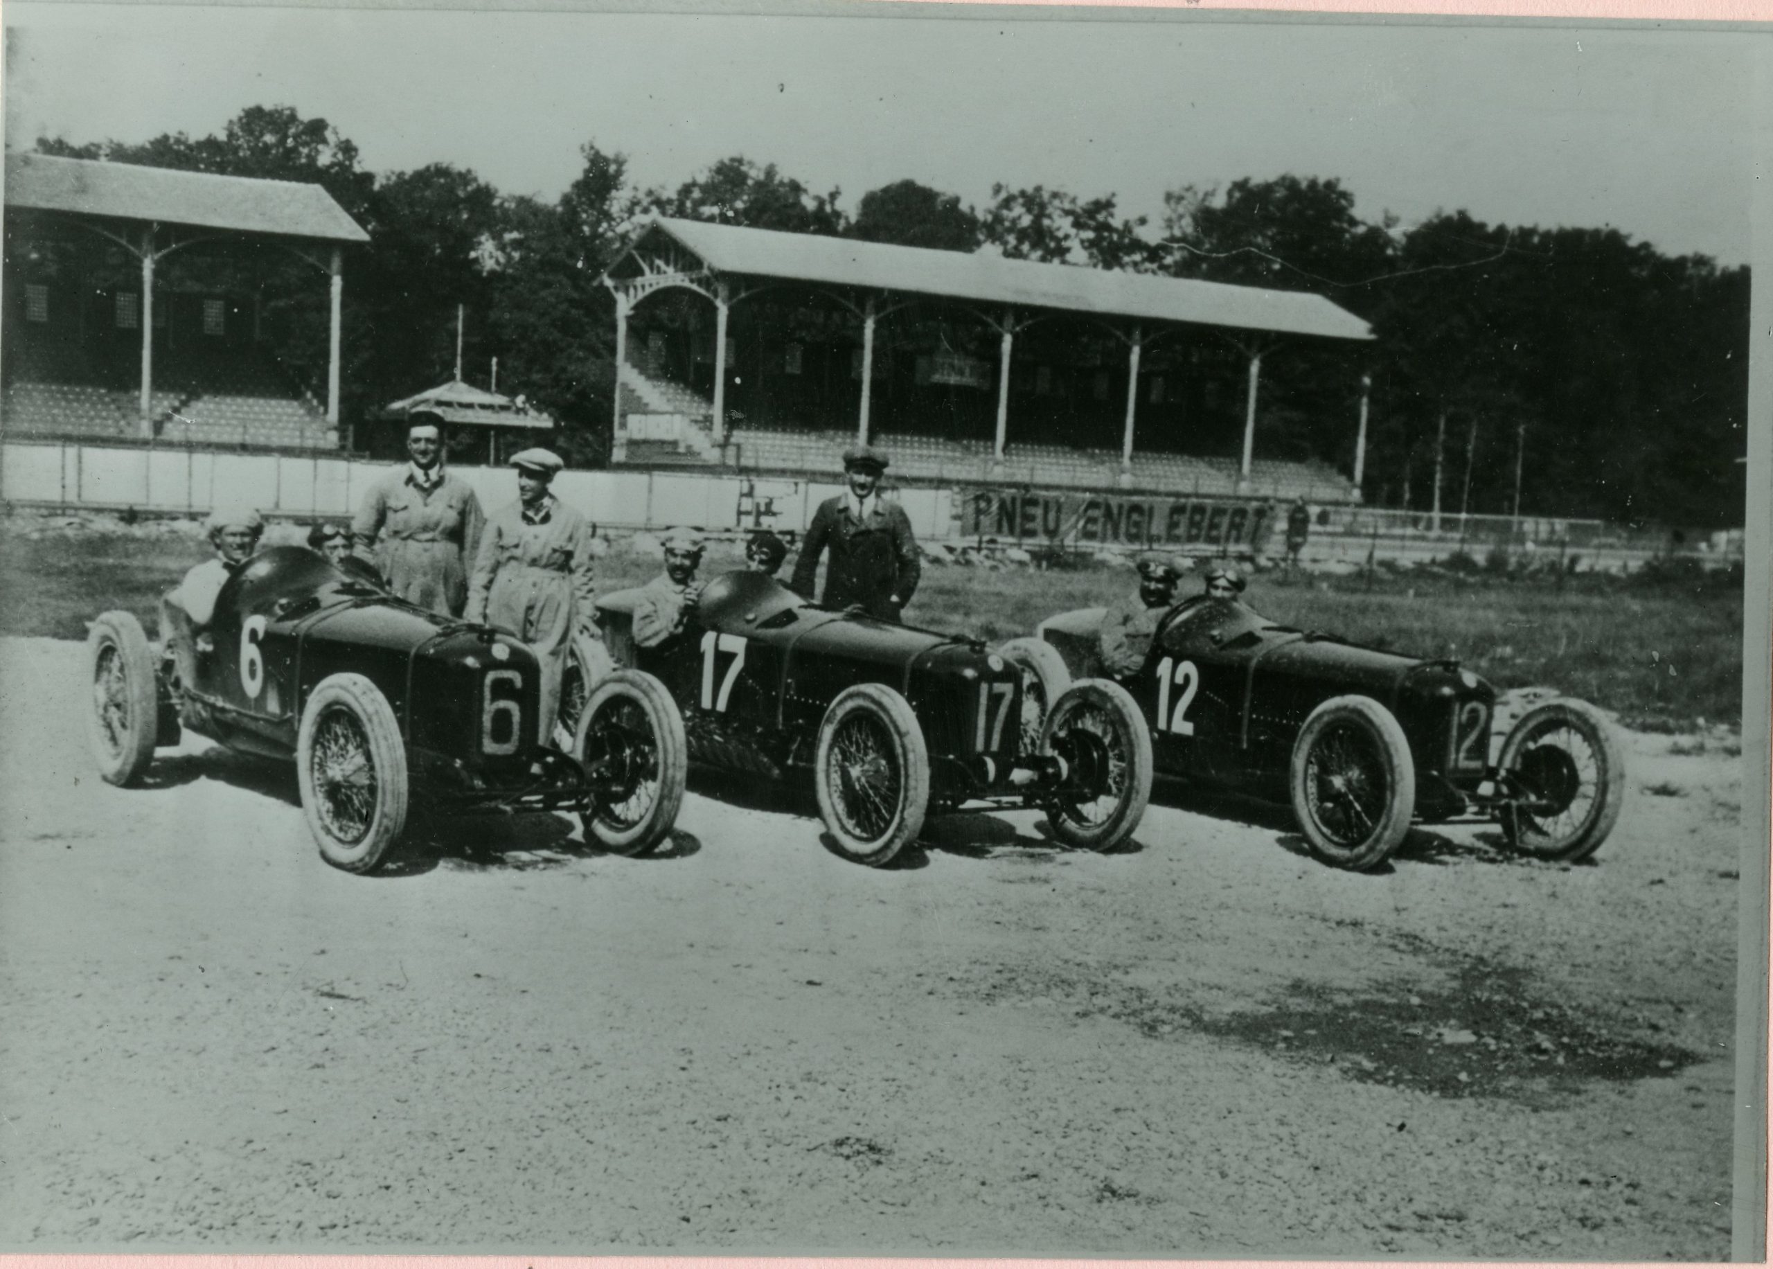
[[[339,450],[340,245],[319,186],[5,156],[0,424],[11,438]],[[262,269],[330,276],[324,404],[262,340]]]

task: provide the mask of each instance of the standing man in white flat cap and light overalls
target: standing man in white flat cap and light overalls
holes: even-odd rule
[[[468,585],[472,622],[511,631],[543,668],[541,736],[553,736],[573,634],[592,624],[590,525],[548,489],[566,463],[534,448],[511,457],[518,500],[486,521]]]

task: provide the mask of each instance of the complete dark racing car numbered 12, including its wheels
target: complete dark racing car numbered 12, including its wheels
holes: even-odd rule
[[[1050,617],[1002,652],[1041,665],[1057,697],[1097,673],[1105,610]],[[1498,821],[1548,860],[1590,856],[1619,817],[1624,760],[1592,705],[1528,711],[1491,760],[1495,689],[1457,661],[1422,661],[1195,596],[1160,624],[1138,702],[1156,771],[1291,801],[1317,858],[1372,868],[1410,824]]]

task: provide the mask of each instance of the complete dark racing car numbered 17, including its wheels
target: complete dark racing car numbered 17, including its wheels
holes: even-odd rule
[[[612,665],[665,682],[691,762],[810,771],[846,858],[890,861],[929,812],[1039,806],[1060,842],[1097,851],[1138,828],[1151,739],[1112,682],[1030,698],[1023,666],[979,642],[819,608],[752,571],[711,580],[681,634],[637,647],[637,594],[598,601]]]

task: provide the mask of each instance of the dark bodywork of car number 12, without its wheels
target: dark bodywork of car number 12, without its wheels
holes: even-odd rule
[[[1041,622],[1073,673],[1099,672],[1106,610]],[[1300,730],[1324,702],[1360,695],[1402,727],[1415,760],[1415,815],[1445,821],[1480,798],[1491,771],[1496,693],[1457,661],[1360,647],[1278,626],[1238,599],[1204,596],[1160,622],[1144,666],[1119,682],[1151,727],[1160,776],[1287,799]]]

